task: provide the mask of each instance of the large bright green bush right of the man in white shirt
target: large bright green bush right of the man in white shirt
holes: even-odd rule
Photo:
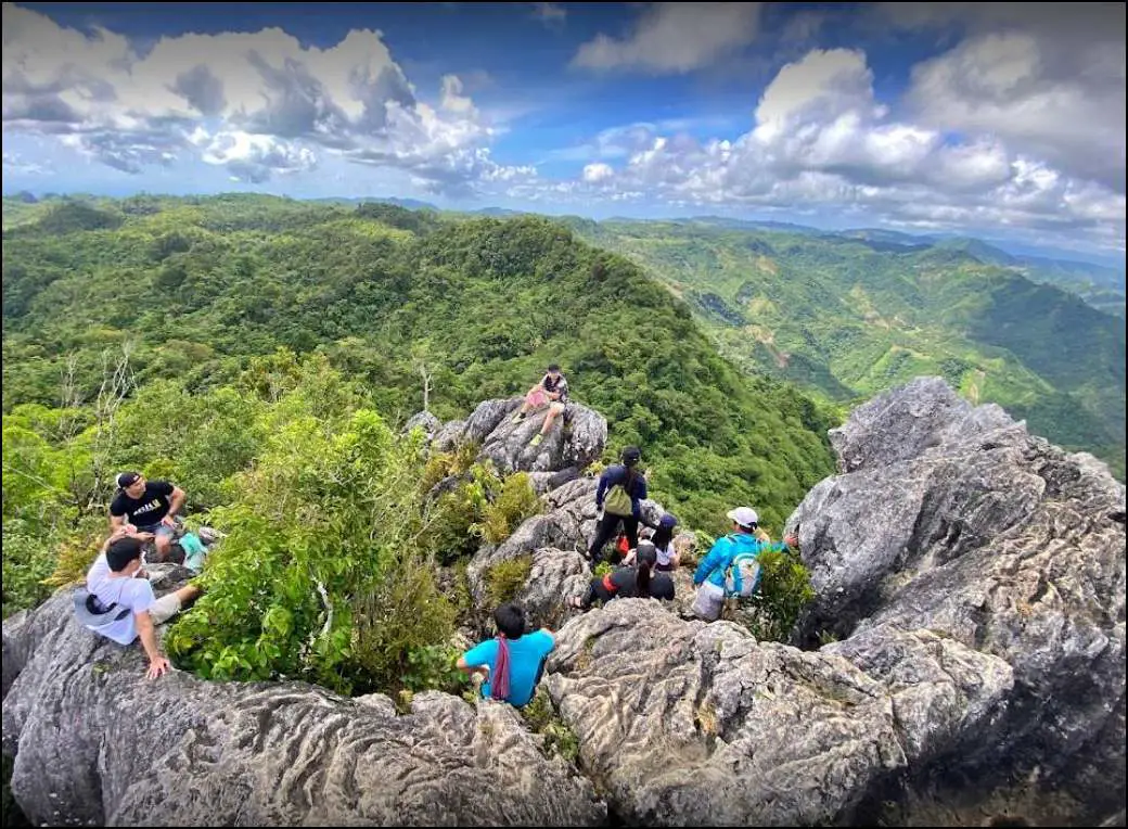
[[[347,397],[340,376],[310,368],[252,425],[265,446],[236,475],[235,501],[212,511],[228,535],[167,647],[205,678],[387,689],[411,653],[453,633],[455,607],[418,547],[421,447],[372,411],[309,414]]]

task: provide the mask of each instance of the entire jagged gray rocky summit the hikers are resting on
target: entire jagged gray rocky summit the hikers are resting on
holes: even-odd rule
[[[787,521],[817,598],[788,643],[673,602],[585,614],[607,422],[540,447],[519,399],[418,418],[535,477],[545,510],[469,563],[530,561],[558,626],[543,686],[575,762],[493,702],[406,711],[292,681],[147,682],[68,590],[3,625],[12,792],[51,824],[1123,824],[1125,487],[1086,455],[923,378],[831,433],[839,474]],[[661,512],[647,503],[647,517]],[[166,574],[170,589],[186,574]]]

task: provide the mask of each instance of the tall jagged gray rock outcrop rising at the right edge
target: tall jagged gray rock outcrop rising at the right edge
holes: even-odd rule
[[[851,471],[787,522],[818,592],[801,635],[834,632],[846,641],[825,651],[895,686],[890,662],[924,659],[897,630],[990,655],[1013,679],[994,671],[969,697],[996,711],[969,709],[975,727],[952,734],[964,774],[986,786],[1037,769],[1051,786],[1096,753],[1109,761],[1087,774],[1074,819],[1122,808],[1125,487],[934,379],[862,406],[832,440]],[[1105,727],[1116,721],[1119,734]],[[1110,733],[1117,744],[1102,747]]]

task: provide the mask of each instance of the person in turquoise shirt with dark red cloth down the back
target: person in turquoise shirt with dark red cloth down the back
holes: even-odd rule
[[[482,677],[483,698],[520,708],[532,699],[556,640],[545,627],[526,634],[525,609],[513,602],[494,610],[494,624],[497,636],[464,653],[457,665],[472,677]]]

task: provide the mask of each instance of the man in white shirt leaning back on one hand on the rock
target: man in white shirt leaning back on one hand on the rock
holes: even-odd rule
[[[111,536],[102,546],[86,574],[82,623],[102,636],[122,645],[141,637],[149,656],[149,679],[156,679],[170,665],[157,645],[157,625],[176,616],[187,602],[200,596],[200,588],[188,584],[157,598],[141,568],[141,539],[125,530]]]

